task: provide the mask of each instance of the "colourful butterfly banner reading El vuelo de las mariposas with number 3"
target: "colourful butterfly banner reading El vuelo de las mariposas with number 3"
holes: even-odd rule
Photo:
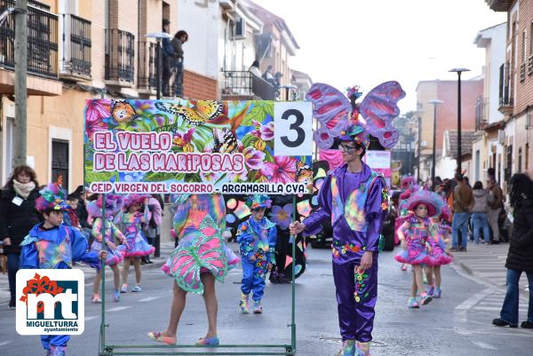
[[[305,102],[88,100],[85,186],[99,194],[311,194],[311,115]]]

